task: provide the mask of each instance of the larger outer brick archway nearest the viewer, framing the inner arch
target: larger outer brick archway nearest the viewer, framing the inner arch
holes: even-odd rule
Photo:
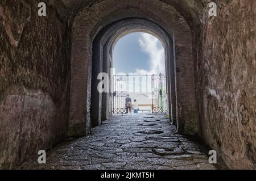
[[[141,7],[146,2],[134,4],[127,2],[121,6],[114,6],[113,2],[106,1],[102,2],[102,4],[93,5],[89,9],[85,8],[81,10],[74,20],[69,134],[81,136],[90,132],[89,110],[91,105],[90,98],[92,96],[91,62],[93,61],[93,41],[96,40],[98,33],[104,30],[104,28],[108,30],[112,27],[113,22],[132,18],[141,18],[158,24],[171,37],[171,44],[175,45],[172,51],[175,52],[173,56],[174,61],[172,61],[174,65],[169,65],[167,68],[172,67],[174,69],[176,67],[176,69],[170,71],[170,73],[173,73],[172,77],[174,77],[172,84],[175,85],[172,86],[172,92],[175,92],[172,96],[172,102],[175,105],[172,111],[173,121],[177,121],[177,128],[180,133],[195,134],[197,132],[195,80],[192,35],[188,24],[181,18],[179,12],[170,6],[159,6],[161,11],[156,15],[152,13],[155,9],[154,6],[151,6],[151,2],[147,2],[150,4],[147,10]],[[163,2],[159,3],[160,5],[164,4]],[[106,11],[106,7],[109,7],[108,11]],[[169,20],[167,20],[167,16],[170,16]],[[127,23],[126,28],[129,29],[129,23]],[[147,28],[144,27],[144,30],[147,30]]]

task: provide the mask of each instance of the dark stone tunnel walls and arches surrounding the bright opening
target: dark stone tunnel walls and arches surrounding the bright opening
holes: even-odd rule
[[[229,169],[256,169],[256,1],[44,0],[46,16],[39,2],[0,0],[0,169],[112,117],[97,75],[138,31],[166,51],[176,133],[200,137]]]

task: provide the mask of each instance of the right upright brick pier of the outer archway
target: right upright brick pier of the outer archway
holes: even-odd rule
[[[183,28],[189,32],[189,28]],[[176,94],[177,94],[177,131],[179,133],[197,134],[197,112],[195,100],[195,73],[192,58],[191,33],[175,33],[176,57]]]

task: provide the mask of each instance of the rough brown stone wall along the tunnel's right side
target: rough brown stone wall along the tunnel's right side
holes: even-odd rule
[[[196,40],[200,136],[232,169],[256,168],[255,7],[231,1]]]

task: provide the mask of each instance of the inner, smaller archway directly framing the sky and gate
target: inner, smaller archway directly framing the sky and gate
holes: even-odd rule
[[[94,77],[92,78],[94,81],[97,79],[97,75],[99,73],[106,72],[110,74],[110,62],[112,62],[112,50],[117,43],[117,41],[122,37],[127,35],[128,33],[131,32],[147,32],[150,33],[156,37],[159,38],[159,40],[162,42],[163,47],[165,48],[166,52],[166,72],[168,74],[168,82],[167,82],[167,87],[170,88],[168,89],[168,93],[171,94],[172,96],[169,96],[168,102],[170,103],[170,111],[169,113],[173,115],[173,119],[171,118],[172,123],[175,123],[175,118],[176,118],[176,93],[175,93],[175,69],[174,69],[174,45],[173,45],[173,40],[170,35],[166,31],[164,31],[158,24],[155,24],[151,21],[145,20],[145,19],[140,19],[140,18],[127,18],[127,19],[122,19],[118,20],[117,22],[113,22],[112,26],[108,26],[106,28],[102,28],[102,30],[98,33],[96,38],[93,41],[93,60],[92,64],[96,65],[96,67],[93,66],[93,70],[96,70],[96,73],[93,74]],[[103,62],[103,65],[102,65]],[[172,69],[172,70],[171,70]],[[169,74],[172,74],[169,75]],[[172,77],[172,79],[171,79]],[[95,85],[92,85],[92,89],[94,89],[92,92],[97,92],[97,83],[98,82],[93,82]],[[172,85],[172,86],[171,86]],[[172,88],[172,91],[171,91]],[[101,100],[95,96],[92,98],[92,100]],[[101,96],[101,95],[100,95]],[[110,100],[109,94],[103,94],[102,95],[102,119],[108,119],[109,116],[111,115],[111,110],[110,107],[111,105],[108,104]],[[171,100],[171,97],[173,100]],[[172,103],[172,106],[171,106]],[[91,104],[92,105],[92,104]],[[101,104],[100,104],[101,105]],[[101,107],[101,106],[100,106]],[[172,109],[171,109],[172,107]],[[94,105],[93,110],[97,110],[97,114],[100,114],[101,108],[98,107],[98,104]],[[98,117],[100,116],[93,116]],[[91,115],[92,118],[92,115]],[[98,121],[100,123],[101,121]],[[98,125],[98,123],[96,125]]]

